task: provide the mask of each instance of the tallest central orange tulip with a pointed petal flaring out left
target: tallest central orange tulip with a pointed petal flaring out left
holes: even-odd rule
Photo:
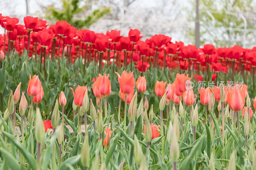
[[[133,77],[133,72],[127,73],[125,70],[122,72],[121,76],[116,72],[118,76],[117,80],[120,85],[120,90],[124,95],[130,94],[134,90],[135,79]]]

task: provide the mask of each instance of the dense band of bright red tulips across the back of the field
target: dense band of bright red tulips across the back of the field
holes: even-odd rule
[[[86,29],[77,30],[66,21],[49,25],[46,20],[31,16],[24,17],[24,23],[22,25],[18,18],[0,14],[0,24],[5,30],[0,35],[0,48],[4,53],[15,50],[21,55],[24,49],[29,49],[28,55],[32,57],[42,54],[45,48],[50,58],[64,55],[73,63],[82,56],[86,58],[85,62],[103,59],[103,65],[115,61],[119,66],[124,64],[126,67],[132,62],[139,71],[148,69],[149,63],[157,68],[180,67],[187,70],[193,67],[217,72],[227,72],[231,68],[242,73],[256,66],[256,47],[215,48],[205,44],[203,48],[196,48],[195,45],[184,46],[181,41],[174,43],[171,37],[161,34],[142,41],[143,34],[138,29],[130,29],[128,37],[125,37],[120,35],[121,31],[94,33]]]

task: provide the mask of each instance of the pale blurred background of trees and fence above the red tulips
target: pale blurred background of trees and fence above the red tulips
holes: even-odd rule
[[[256,44],[256,0],[1,0],[0,11],[19,18],[20,23],[30,15],[50,24],[65,20],[96,33],[116,29],[127,36],[130,28],[137,28],[145,34],[143,40],[165,34],[172,42],[198,47],[211,43],[252,48]],[[196,11],[200,34],[195,36]]]

